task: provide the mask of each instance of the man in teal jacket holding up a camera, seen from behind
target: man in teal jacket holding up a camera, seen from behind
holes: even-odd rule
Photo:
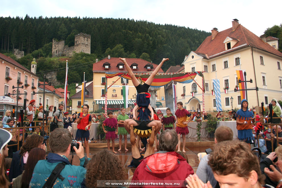
[[[47,160],[37,162],[30,180],[30,187],[81,187],[86,173],[84,167],[88,163],[88,158],[84,157],[82,143],[72,141],[67,129],[56,128],[50,134],[49,144],[52,152],[48,154]],[[74,146],[77,144],[78,149],[78,146]],[[72,150],[79,157],[80,166],[70,164],[68,157]],[[63,168],[59,167],[59,164]]]

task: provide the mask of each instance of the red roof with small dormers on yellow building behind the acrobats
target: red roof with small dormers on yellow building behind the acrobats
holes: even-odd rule
[[[110,70],[104,70],[103,64],[106,63],[106,62],[111,64]],[[111,58],[111,59],[105,58],[105,59],[93,64],[93,72],[127,72],[126,68],[124,68],[124,70],[118,69],[117,64],[120,63],[120,62],[121,61],[118,58]],[[142,60],[140,58],[126,58],[126,62],[129,66],[133,63],[138,64],[138,66],[137,66],[138,70],[132,70],[133,72],[136,72],[136,73],[148,72],[147,69],[144,68],[144,67],[148,63],[151,64],[150,62]],[[153,63],[154,68],[152,70],[154,70],[157,66],[158,66],[157,64]],[[161,68],[159,72],[163,73],[164,71]]]

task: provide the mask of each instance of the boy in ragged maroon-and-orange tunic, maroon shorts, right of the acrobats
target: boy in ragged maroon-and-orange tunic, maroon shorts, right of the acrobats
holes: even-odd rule
[[[182,102],[178,102],[177,104],[177,111],[175,112],[175,116],[176,116],[176,133],[178,136],[178,150],[177,152],[180,152],[180,134],[182,134],[182,152],[186,152],[185,151],[185,144],[186,144],[186,135],[189,133],[188,130],[188,123],[191,121],[192,118],[189,118],[188,121],[187,117],[190,117],[190,113],[183,108],[183,103]]]

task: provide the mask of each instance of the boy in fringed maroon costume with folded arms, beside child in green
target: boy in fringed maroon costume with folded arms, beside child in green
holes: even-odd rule
[[[113,153],[117,153],[115,151],[115,138],[117,138],[117,134],[118,134],[117,119],[113,118],[112,111],[108,111],[107,114],[108,114],[108,118],[105,119],[102,125],[103,131],[106,133],[108,150],[110,150],[110,140],[112,139]]]

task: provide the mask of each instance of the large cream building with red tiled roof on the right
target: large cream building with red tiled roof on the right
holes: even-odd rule
[[[232,27],[221,32],[212,29],[196,51],[191,51],[182,63],[185,72],[205,71],[205,110],[216,110],[215,96],[212,95],[213,79],[220,80],[221,104],[223,110],[241,108],[240,92],[234,92],[238,85],[236,70],[246,70],[249,107],[261,106],[261,102],[269,104],[271,99],[281,100],[282,96],[282,53],[266,42],[265,36],[258,37],[237,19],[232,21]],[[201,77],[196,76],[195,81],[202,86]],[[227,93],[224,92],[228,87]],[[202,111],[202,91],[194,83],[179,84],[176,86],[177,102],[183,102],[187,110]],[[192,97],[191,91],[197,91]],[[181,94],[185,93],[185,96]],[[234,98],[233,103],[230,97]]]

